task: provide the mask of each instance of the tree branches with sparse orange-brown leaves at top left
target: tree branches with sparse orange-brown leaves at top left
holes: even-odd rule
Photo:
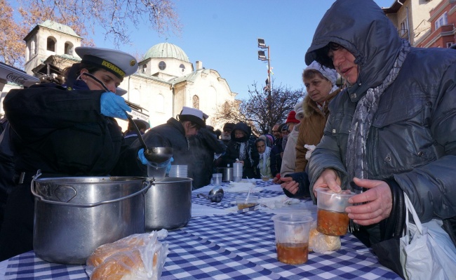
[[[17,22],[12,20],[13,2],[17,2],[21,17]],[[105,30],[105,39],[113,41],[113,48],[130,44],[132,29],[142,25],[163,35],[172,32],[180,36],[182,30],[172,0],[0,0],[0,19],[8,20],[8,24],[2,21],[0,26],[3,51],[0,60],[15,67],[23,64],[25,44],[22,39],[45,20],[72,27],[76,34],[86,38],[84,46],[93,46],[90,34],[95,33],[95,26]],[[12,61],[11,58],[17,59]]]

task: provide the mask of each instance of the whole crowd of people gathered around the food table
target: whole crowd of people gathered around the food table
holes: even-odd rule
[[[135,129],[121,133],[114,119],[131,110],[116,91],[138,62],[121,51],[75,51],[82,60],[66,69],[66,84],[12,90],[4,100],[0,260],[32,250],[36,171],[147,176]],[[272,134],[256,137],[242,121],[214,131],[190,107],[166,124],[136,125],[147,147],[173,148],[173,164],[188,166],[194,188],[241,163],[243,178],[270,178],[290,197],[316,202],[316,189],[349,189],[353,233],[379,250],[403,232],[406,194],[420,220],[442,220],[456,244],[456,51],[413,48],[373,1],[337,0],[305,62],[307,95]]]

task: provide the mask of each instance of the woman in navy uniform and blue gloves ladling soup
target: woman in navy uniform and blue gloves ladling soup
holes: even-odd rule
[[[67,84],[12,90],[4,100],[15,154],[15,188],[8,196],[0,232],[0,260],[33,249],[32,176],[142,175],[139,148],[123,144],[116,118],[131,109],[116,95],[138,69],[132,55],[78,47],[82,58],[67,71]]]

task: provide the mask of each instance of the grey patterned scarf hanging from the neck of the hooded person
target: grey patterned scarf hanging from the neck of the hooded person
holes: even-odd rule
[[[368,176],[366,141],[368,139],[370,126],[372,125],[375,112],[377,112],[380,97],[398,76],[409,51],[410,44],[408,41],[403,40],[398,58],[396,58],[394,66],[391,68],[388,76],[380,86],[369,88],[366,95],[364,95],[356,105],[354,117],[351,121],[346,155],[347,173],[350,180],[354,177],[366,179]],[[361,188],[355,187],[354,184],[351,185],[354,188],[354,192],[357,194],[362,192]]]

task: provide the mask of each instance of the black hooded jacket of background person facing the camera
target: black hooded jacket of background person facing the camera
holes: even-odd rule
[[[243,131],[243,138],[236,138],[235,131]],[[260,171],[258,171],[258,162],[260,161],[260,155],[258,154],[255,143],[250,141],[251,134],[250,127],[243,122],[236,124],[232,131],[232,140],[228,142],[227,151],[222,156],[220,167],[233,167],[233,163],[236,159],[244,161],[242,178],[260,178]],[[246,147],[244,157],[241,156],[241,147]]]

